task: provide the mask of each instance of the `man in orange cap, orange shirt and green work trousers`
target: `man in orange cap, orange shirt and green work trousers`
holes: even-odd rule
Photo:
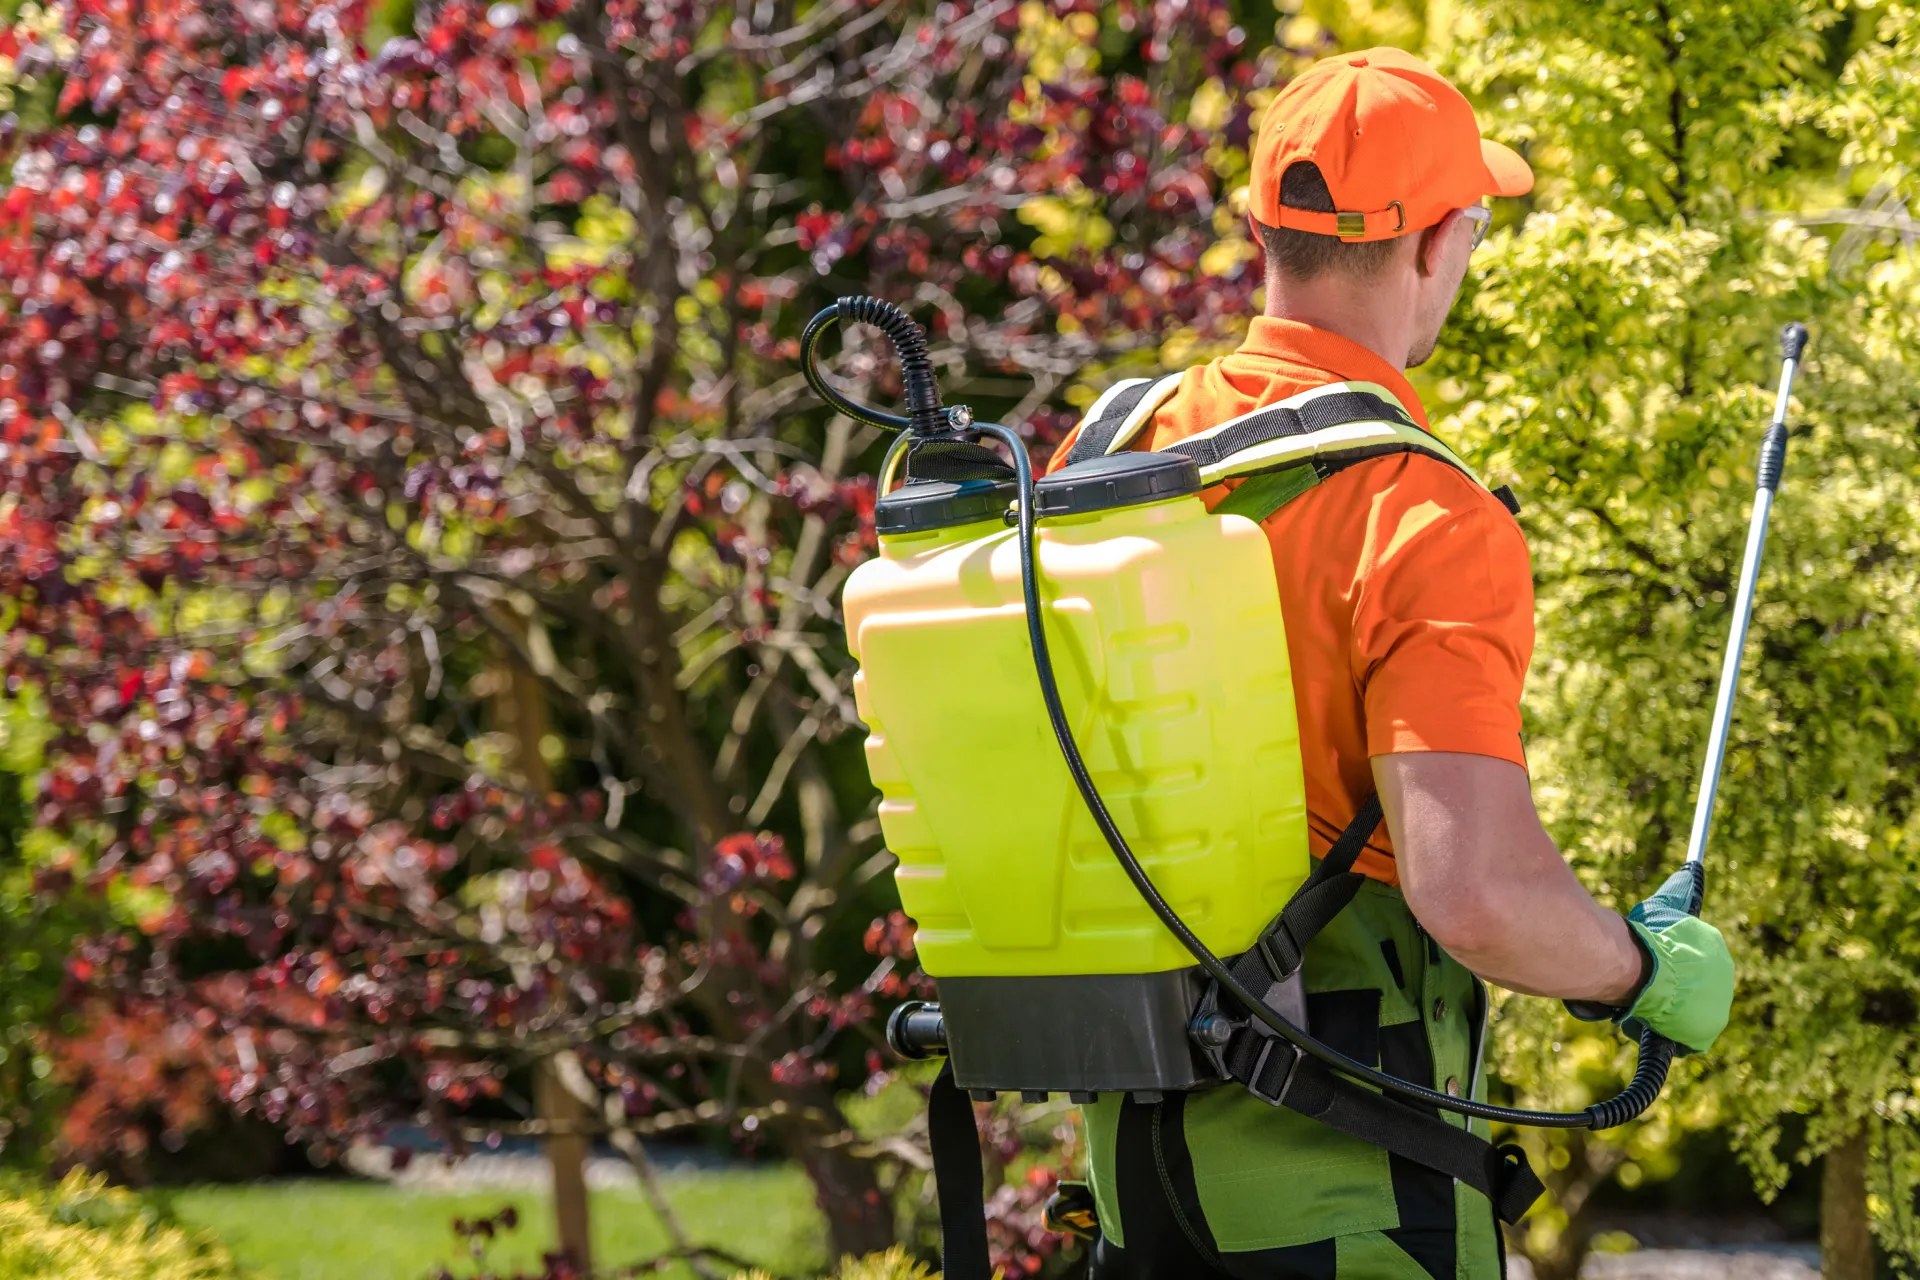
[[[1434,351],[1486,232],[1480,201],[1530,186],[1526,161],[1482,140],[1467,100],[1419,59],[1367,50],[1317,63],[1273,102],[1254,150],[1265,315],[1238,351],[1188,370],[1133,447],[1331,382],[1377,384],[1427,428],[1402,370]],[[1532,576],[1501,501],[1434,457],[1400,453],[1329,476],[1263,528],[1313,854],[1371,794],[1386,814],[1357,864],[1369,881],[1308,946],[1313,1032],[1471,1094],[1478,975],[1707,1050],[1726,1025],[1732,960],[1686,913],[1684,877],[1622,919],[1534,814],[1519,706]],[[1484,1196],[1246,1090],[1104,1096],[1087,1126],[1102,1230],[1092,1280],[1500,1274]]]

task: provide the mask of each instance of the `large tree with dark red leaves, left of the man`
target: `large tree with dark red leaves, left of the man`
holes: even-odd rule
[[[897,925],[860,948],[891,860],[835,604],[885,441],[797,334],[908,305],[948,401],[1043,445],[1114,367],[1231,338],[1248,92],[1286,69],[1240,8],[0,29],[6,679],[50,708],[38,825],[129,921],[69,963],[73,1150],[209,1092],[323,1151],[426,1121],[645,1167],[720,1128],[885,1245],[891,1148],[837,1092],[924,979]],[[897,393],[876,334],[835,376]]]

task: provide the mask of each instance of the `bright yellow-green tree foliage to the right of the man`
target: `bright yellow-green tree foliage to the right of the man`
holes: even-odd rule
[[[1617,906],[1686,839],[1774,336],[1791,319],[1814,332],[1709,858],[1709,912],[1741,975],[1734,1023],[1676,1073],[1661,1115],[1551,1163],[1645,1180],[1676,1171],[1688,1132],[1720,1128],[1772,1197],[1824,1155],[1830,1274],[1857,1274],[1834,1259],[1868,1253],[1868,1217],[1885,1247],[1920,1244],[1912,152],[1859,107],[1905,79],[1889,59],[1910,48],[1912,13],[1452,17],[1450,65],[1544,180],[1494,238],[1428,386],[1442,430],[1526,495],[1538,793]],[[1507,1004],[1501,1075],[1571,1102],[1613,1077],[1619,1050],[1555,1013]],[[1544,1270],[1578,1257],[1569,1203],[1530,1222]]]

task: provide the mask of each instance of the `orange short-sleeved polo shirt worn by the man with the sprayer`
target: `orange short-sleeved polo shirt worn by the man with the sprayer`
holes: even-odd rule
[[[1348,380],[1388,388],[1430,430],[1405,374],[1367,347],[1256,317],[1238,351],[1187,370],[1135,447],[1164,449]],[[1233,484],[1206,497],[1219,501]],[[1534,580],[1500,499],[1438,459],[1400,453],[1336,472],[1263,528],[1286,616],[1315,856],[1375,791],[1371,756],[1457,750],[1526,766],[1521,685],[1534,652]],[[1398,883],[1384,823],[1357,869]]]

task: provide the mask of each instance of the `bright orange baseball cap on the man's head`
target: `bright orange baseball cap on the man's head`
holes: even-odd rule
[[[1281,203],[1281,175],[1296,161],[1319,165],[1338,213]],[[1392,240],[1532,186],[1513,148],[1480,136],[1467,98],[1396,48],[1319,59],[1281,90],[1254,140],[1254,217],[1342,240]]]

